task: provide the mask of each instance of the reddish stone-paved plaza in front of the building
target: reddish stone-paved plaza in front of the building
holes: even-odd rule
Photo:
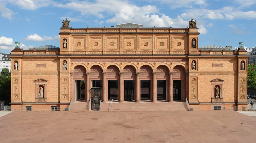
[[[16,111],[0,117],[1,143],[253,143],[255,132],[256,118],[232,110]]]

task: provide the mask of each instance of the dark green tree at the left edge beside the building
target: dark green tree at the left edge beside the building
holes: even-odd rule
[[[0,100],[4,100],[4,105],[11,102],[11,73],[8,68],[3,68],[0,76]]]

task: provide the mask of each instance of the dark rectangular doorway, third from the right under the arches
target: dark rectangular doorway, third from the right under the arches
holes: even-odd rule
[[[150,100],[150,80],[140,81],[140,99]]]

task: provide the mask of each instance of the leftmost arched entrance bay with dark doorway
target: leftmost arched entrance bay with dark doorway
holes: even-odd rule
[[[75,66],[73,70],[73,100],[86,100],[87,97],[87,82],[86,69],[82,65]]]

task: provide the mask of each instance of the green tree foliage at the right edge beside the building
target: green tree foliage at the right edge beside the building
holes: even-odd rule
[[[248,77],[247,77],[247,86],[253,87],[256,89],[256,71],[255,71],[255,64],[248,65]]]

